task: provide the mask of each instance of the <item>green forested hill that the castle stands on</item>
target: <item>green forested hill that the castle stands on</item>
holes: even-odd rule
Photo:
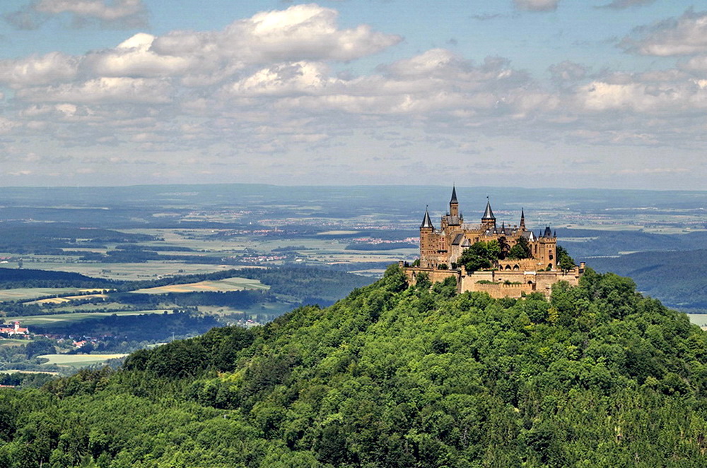
[[[0,392],[7,467],[703,467],[707,337],[633,282],[334,306]]]

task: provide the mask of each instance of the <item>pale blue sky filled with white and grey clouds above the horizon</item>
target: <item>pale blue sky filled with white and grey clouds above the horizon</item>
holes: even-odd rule
[[[693,0],[2,0],[0,186],[707,189]]]

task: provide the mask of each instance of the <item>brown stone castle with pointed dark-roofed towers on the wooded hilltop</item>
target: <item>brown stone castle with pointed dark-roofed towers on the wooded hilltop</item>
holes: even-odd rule
[[[493,261],[491,268],[467,272],[457,265],[462,253],[477,242],[496,241],[503,255]],[[510,258],[506,253],[516,244],[527,246],[527,258]],[[520,224],[501,227],[486,200],[486,210],[480,224],[465,223],[459,210],[457,190],[452,187],[449,211],[442,216],[440,228],[432,224],[428,210],[420,225],[419,265],[404,265],[409,282],[414,284],[418,275],[425,274],[432,282],[455,277],[459,292],[487,292],[492,297],[520,297],[532,292],[549,296],[552,285],[566,281],[576,285],[584,272],[584,263],[573,268],[558,268],[557,236],[549,226],[537,235],[525,227],[525,211],[520,212]]]

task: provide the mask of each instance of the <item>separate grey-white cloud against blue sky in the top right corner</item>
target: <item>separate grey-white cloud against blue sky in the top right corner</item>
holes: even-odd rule
[[[654,25],[633,30],[619,44],[627,52],[641,55],[673,56],[707,52],[707,11],[686,11]]]

